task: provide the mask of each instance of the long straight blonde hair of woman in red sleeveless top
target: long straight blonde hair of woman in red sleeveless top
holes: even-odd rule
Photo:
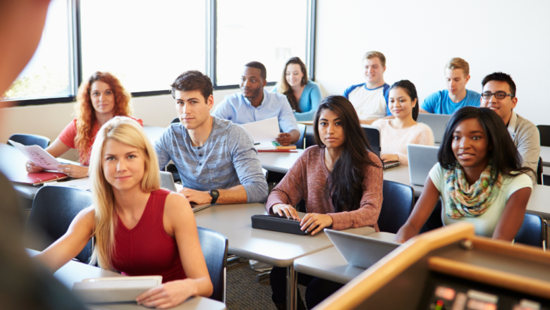
[[[113,187],[104,176],[103,149],[107,140],[112,139],[139,149],[145,159],[145,174],[141,180],[141,190],[152,192],[160,188],[159,161],[157,153],[145,135],[145,130],[131,118],[115,116],[97,132],[90,156],[90,183],[94,199],[95,245],[90,264],[99,263],[104,269],[112,270],[112,257],[115,248],[114,231],[117,213]]]

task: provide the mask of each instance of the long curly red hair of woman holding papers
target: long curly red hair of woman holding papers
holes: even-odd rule
[[[82,85],[78,87],[77,103],[75,104],[77,132],[75,147],[80,152],[80,163],[85,163],[90,158],[89,152],[82,150],[89,149],[90,142],[94,140],[92,133],[97,119],[92,99],[90,99],[90,89],[95,81],[102,81],[111,87],[111,92],[115,97],[114,116],[132,116],[132,106],[130,106],[132,95],[124,89],[121,81],[114,75],[97,71],[87,81],[82,82]]]

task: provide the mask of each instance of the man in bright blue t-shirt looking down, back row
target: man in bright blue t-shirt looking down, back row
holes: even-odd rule
[[[453,58],[445,65],[447,89],[430,94],[420,105],[420,113],[453,114],[463,106],[477,106],[481,95],[466,89],[470,65],[463,58]]]

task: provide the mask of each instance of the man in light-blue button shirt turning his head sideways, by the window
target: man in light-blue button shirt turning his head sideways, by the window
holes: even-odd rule
[[[298,123],[291,104],[283,94],[267,92],[267,70],[262,63],[252,61],[245,65],[240,77],[240,93],[226,96],[216,107],[213,116],[247,124],[276,117],[281,133],[275,141],[281,145],[295,144],[300,139]]]

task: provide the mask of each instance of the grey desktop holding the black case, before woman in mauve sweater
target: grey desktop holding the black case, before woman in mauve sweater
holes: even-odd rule
[[[263,204],[214,205],[195,213],[197,226],[215,230],[229,240],[229,252],[278,267],[292,266],[298,257],[332,247],[324,233],[291,235],[252,228],[250,217],[266,214]],[[345,230],[357,235],[374,233],[374,228]]]

